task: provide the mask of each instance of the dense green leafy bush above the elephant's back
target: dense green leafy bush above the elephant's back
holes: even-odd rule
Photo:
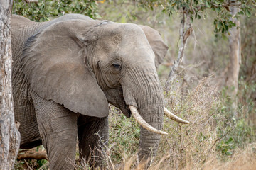
[[[13,13],[32,21],[49,21],[68,13],[80,13],[91,18],[100,18],[95,0],[39,0],[37,4],[26,3],[24,0],[14,0]]]

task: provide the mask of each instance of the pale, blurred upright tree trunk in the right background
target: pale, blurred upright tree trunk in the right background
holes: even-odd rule
[[[240,22],[235,18],[235,15],[239,11],[238,1],[230,0],[230,13],[232,17],[230,18],[233,23],[236,24],[235,27],[230,28],[230,36],[228,38],[229,46],[230,46],[230,65],[228,67],[228,74],[226,79],[226,86],[228,86],[228,93],[230,99],[232,100],[231,109],[233,111],[233,115],[237,116],[237,108],[238,108],[238,75],[240,69],[240,53],[241,53],[241,39],[240,39]]]

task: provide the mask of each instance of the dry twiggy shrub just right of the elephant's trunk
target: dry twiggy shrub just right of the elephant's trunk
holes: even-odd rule
[[[209,79],[203,79],[191,90],[177,86],[166,96],[171,111],[190,121],[188,125],[178,125],[165,120],[164,129],[170,135],[163,137],[159,154],[171,155],[169,167],[172,169],[182,169],[188,162],[199,168],[215,154],[215,144],[220,140],[217,130],[223,128],[225,121],[217,94],[216,87],[209,85]]]

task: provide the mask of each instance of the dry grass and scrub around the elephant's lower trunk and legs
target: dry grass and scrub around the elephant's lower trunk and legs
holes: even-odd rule
[[[193,88],[176,79],[165,94],[165,106],[188,120],[180,125],[164,118],[159,152],[153,162],[139,163],[139,124],[110,107],[109,145],[101,146],[105,169],[253,169],[256,162],[255,129],[245,118],[234,119],[227,96],[210,85],[212,78],[198,81]],[[46,167],[46,166],[45,166]],[[44,169],[46,169],[44,167]],[[75,169],[91,169],[87,162]],[[100,169],[100,168],[98,168]]]

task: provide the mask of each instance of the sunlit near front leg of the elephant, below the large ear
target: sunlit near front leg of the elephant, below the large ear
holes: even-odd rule
[[[74,169],[78,134],[78,113],[73,113],[54,101],[33,94],[38,128],[46,148],[49,168]]]

